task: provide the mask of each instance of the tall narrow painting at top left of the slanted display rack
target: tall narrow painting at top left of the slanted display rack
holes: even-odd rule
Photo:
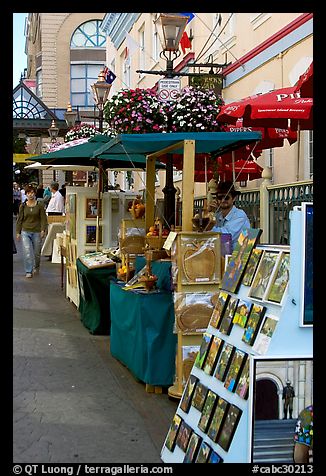
[[[241,279],[250,258],[250,254],[255,247],[262,230],[255,228],[246,228],[242,230],[238,238],[238,242],[230,259],[228,268],[226,269],[221,289],[237,293],[241,284]]]

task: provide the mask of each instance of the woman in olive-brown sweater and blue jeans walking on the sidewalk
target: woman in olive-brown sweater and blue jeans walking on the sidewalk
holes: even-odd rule
[[[48,228],[44,206],[36,200],[36,189],[32,185],[25,188],[26,202],[19,207],[16,222],[16,239],[22,238],[24,268],[26,278],[40,270],[42,238]]]

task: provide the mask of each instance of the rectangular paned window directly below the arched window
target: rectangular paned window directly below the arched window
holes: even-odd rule
[[[71,64],[70,66],[70,91],[71,105],[92,108],[94,106],[91,84],[97,81],[101,64]]]

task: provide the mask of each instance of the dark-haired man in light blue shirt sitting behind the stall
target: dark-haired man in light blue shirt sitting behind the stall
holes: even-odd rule
[[[244,228],[250,228],[250,222],[246,213],[233,204],[238,195],[240,195],[240,192],[235,190],[231,181],[219,182],[216,200],[212,200],[209,204],[211,211],[216,210],[216,225],[211,231],[230,233],[233,250],[241,231]]]

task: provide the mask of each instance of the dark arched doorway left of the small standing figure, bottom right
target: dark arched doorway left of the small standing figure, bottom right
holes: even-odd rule
[[[272,380],[256,381],[255,420],[278,420],[277,386]]]

